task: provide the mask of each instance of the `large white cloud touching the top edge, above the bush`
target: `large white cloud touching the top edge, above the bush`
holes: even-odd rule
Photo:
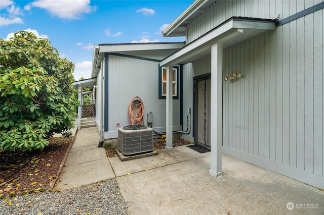
[[[82,14],[89,14],[97,10],[96,6],[90,6],[90,0],[36,0],[30,4],[32,7],[42,8],[50,12],[52,16],[61,19],[79,19]]]

